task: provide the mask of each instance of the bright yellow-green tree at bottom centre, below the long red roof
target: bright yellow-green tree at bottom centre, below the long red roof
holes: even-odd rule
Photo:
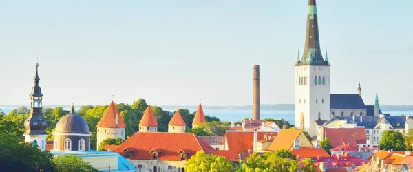
[[[226,158],[217,155],[205,154],[204,151],[198,151],[191,156],[186,164],[188,172],[218,172],[233,171],[232,162]]]

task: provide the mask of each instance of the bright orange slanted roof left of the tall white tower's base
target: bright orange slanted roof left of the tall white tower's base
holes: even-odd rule
[[[301,130],[295,129],[281,129],[267,149],[271,151],[277,151],[279,149],[290,150],[290,148],[293,147],[294,140],[298,138],[301,132]]]

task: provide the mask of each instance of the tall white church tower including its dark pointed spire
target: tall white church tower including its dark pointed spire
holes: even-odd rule
[[[321,54],[315,0],[308,0],[306,42],[295,63],[295,125],[315,136],[316,120],[330,118],[330,63]]]

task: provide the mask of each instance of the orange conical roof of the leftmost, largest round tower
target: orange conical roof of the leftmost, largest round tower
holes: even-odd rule
[[[116,124],[116,116],[118,116],[118,123]],[[120,116],[118,109],[114,101],[109,104],[105,114],[100,118],[97,127],[107,128],[125,128],[125,122],[123,122],[122,116]]]

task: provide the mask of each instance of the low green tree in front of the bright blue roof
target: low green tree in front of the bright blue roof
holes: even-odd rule
[[[54,158],[53,162],[56,164],[56,169],[60,172],[98,171],[93,168],[89,162],[83,162],[82,158],[75,155],[62,155],[58,158]]]

